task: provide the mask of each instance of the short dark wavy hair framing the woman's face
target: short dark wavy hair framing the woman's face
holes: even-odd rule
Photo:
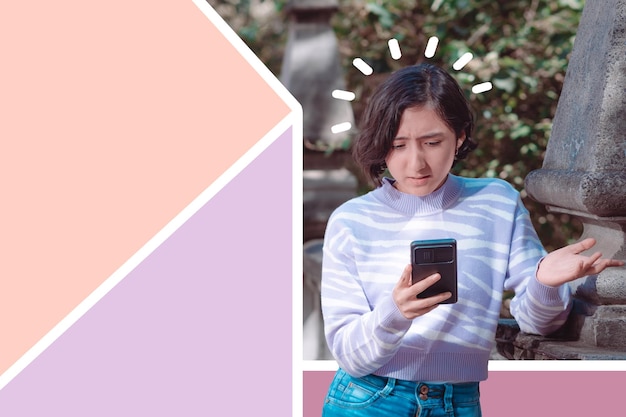
[[[352,156],[376,186],[381,184],[385,158],[391,150],[404,110],[428,105],[454,131],[465,132],[465,141],[455,161],[476,149],[472,139],[474,116],[456,80],[445,70],[422,63],[392,73],[371,96],[363,115],[360,133],[352,145]]]

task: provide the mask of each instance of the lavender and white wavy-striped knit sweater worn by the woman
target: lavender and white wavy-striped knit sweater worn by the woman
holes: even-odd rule
[[[458,298],[408,320],[392,299],[409,244],[457,240]],[[393,180],[338,207],[324,238],[322,310],[338,365],[353,376],[412,381],[481,381],[494,346],[503,290],[522,331],[549,334],[571,308],[569,286],[535,277],[546,252],[519,193],[499,179],[450,174],[417,197]]]

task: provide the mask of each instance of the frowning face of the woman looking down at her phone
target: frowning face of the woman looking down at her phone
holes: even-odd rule
[[[445,182],[454,154],[465,140],[428,106],[402,113],[398,134],[385,158],[387,169],[403,193],[425,196]]]

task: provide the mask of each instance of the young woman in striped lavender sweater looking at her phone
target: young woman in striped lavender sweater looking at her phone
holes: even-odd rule
[[[324,238],[322,308],[339,370],[323,415],[480,416],[503,290],[520,328],[549,334],[566,320],[567,282],[623,262],[581,255],[586,239],[546,254],[519,193],[499,179],[450,174],[475,147],[458,84],[430,64],[379,87],[353,145],[377,186],[331,216]],[[389,171],[392,178],[383,177]],[[458,302],[417,295],[414,240],[457,242]]]

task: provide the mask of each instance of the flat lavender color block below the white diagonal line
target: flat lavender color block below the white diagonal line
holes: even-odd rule
[[[292,141],[281,135],[1,390],[0,415],[291,415]]]

